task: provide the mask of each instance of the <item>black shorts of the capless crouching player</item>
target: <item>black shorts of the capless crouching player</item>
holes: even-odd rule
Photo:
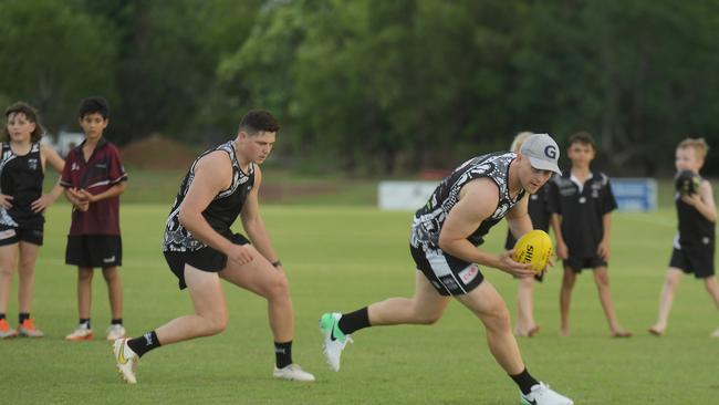
[[[248,245],[250,241],[240,233],[222,235],[235,245]],[[177,277],[180,290],[187,288],[185,283],[185,264],[198,270],[216,273],[222,271],[227,264],[227,255],[209,246],[194,251],[164,251],[167,266]]]

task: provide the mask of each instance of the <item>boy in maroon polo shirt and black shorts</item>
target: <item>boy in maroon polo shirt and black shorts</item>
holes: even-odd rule
[[[70,150],[61,185],[73,205],[65,262],[77,266],[77,310],[80,322],[69,341],[93,339],[90,323],[93,269],[102,268],[107,283],[111,325],[106,339],[125,335],[123,328],[123,290],[118,266],[123,247],[119,236],[119,195],[125,191],[127,174],[117,148],[103,137],[110,123],[107,102],[91,97],[80,105],[80,126],[85,141]]]

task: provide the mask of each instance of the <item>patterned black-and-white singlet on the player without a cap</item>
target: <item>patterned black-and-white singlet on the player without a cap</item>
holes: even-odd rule
[[[196,251],[207,247],[207,245],[192,237],[192,233],[190,233],[179,222],[178,216],[180,205],[195,179],[195,168],[197,167],[197,163],[200,158],[215,150],[222,150],[230,155],[230,160],[232,162],[232,184],[229,188],[215,196],[215,199],[212,199],[202,211],[202,217],[205,217],[212,229],[218,231],[220,235],[226,237],[231,235],[230,226],[240,215],[240,211],[242,211],[242,206],[247,200],[247,196],[250,194],[250,190],[254,185],[254,164],[249,165],[248,173],[243,173],[240,169],[240,164],[237,159],[232,141],[227,142],[215,149],[202,153],[195,159],[195,162],[192,162],[192,166],[190,166],[189,172],[185,175],[185,179],[183,179],[175,202],[173,204],[173,209],[167,217],[163,240],[164,251],[186,252]]]

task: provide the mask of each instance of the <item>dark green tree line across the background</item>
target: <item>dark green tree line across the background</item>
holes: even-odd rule
[[[118,144],[209,144],[268,108],[275,163],[355,174],[585,129],[608,173],[666,174],[686,136],[719,149],[716,15],[719,0],[0,0],[0,102],[54,132],[104,95]]]

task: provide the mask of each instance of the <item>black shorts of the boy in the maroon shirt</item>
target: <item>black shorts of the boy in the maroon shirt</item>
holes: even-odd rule
[[[119,235],[69,235],[65,263],[82,268],[123,266]]]

